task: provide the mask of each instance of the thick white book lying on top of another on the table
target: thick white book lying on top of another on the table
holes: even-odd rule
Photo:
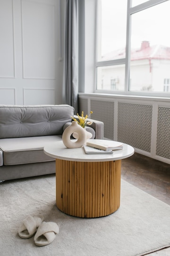
[[[121,142],[109,140],[89,140],[86,142],[86,145],[93,148],[102,149],[104,151],[123,149],[123,144]]]

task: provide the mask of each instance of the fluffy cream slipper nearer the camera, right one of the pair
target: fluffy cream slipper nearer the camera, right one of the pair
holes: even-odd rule
[[[57,234],[59,234],[59,226],[55,222],[43,221],[34,236],[35,245],[49,245]]]

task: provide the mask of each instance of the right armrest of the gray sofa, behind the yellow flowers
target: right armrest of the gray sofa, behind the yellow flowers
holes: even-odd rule
[[[74,118],[78,120],[78,116],[74,115]],[[87,121],[93,122],[89,127],[92,127],[95,131],[95,139],[103,140],[104,137],[104,123],[94,119],[87,118]],[[88,125],[87,125],[88,126]]]

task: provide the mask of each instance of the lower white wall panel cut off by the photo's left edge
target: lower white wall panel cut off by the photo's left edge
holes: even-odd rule
[[[15,105],[15,89],[14,88],[0,88],[0,104]]]

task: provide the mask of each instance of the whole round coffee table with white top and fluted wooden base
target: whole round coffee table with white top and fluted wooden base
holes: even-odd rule
[[[56,205],[82,218],[107,216],[120,206],[121,159],[134,154],[123,143],[113,154],[85,154],[83,147],[68,149],[62,141],[44,147],[56,159]]]

